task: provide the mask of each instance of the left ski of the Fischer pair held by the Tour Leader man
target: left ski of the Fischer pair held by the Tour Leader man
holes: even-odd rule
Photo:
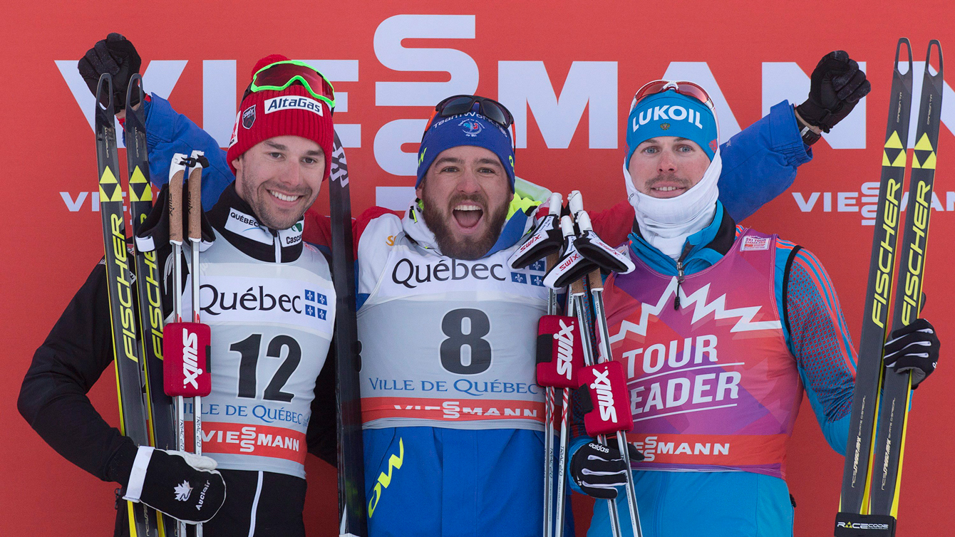
[[[908,69],[899,71],[902,46],[908,52]],[[892,91],[889,98],[888,125],[882,151],[882,173],[879,185],[879,205],[876,210],[875,234],[869,260],[869,282],[865,294],[865,316],[859,339],[859,362],[856,367],[856,386],[853,390],[852,421],[846,445],[845,465],[842,470],[842,491],[839,496],[839,524],[852,524],[847,515],[867,514],[869,469],[871,467],[872,438],[879,407],[879,386],[882,373],[882,346],[885,344],[885,325],[891,299],[892,275],[896,256],[901,215],[902,184],[907,159],[909,114],[912,109],[912,46],[902,37],[896,46]],[[844,527],[844,526],[843,526]]]

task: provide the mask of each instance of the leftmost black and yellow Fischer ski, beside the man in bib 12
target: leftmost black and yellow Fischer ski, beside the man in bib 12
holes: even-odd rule
[[[114,127],[113,78],[104,73],[96,87],[96,163],[99,170],[99,215],[103,224],[106,281],[113,328],[113,358],[119,399],[119,431],[137,445],[148,445],[142,402],[142,362],[133,303],[131,256],[126,249],[122,187],[119,184],[117,133]],[[156,511],[125,502],[132,537],[159,535]],[[123,516],[123,515],[119,515]]]

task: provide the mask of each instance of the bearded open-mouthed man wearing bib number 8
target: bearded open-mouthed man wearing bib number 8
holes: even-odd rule
[[[211,136],[155,94],[144,106],[154,182],[182,145],[206,151],[204,188],[233,180]],[[818,129],[805,120],[824,125],[812,112],[800,108],[797,119],[780,103],[720,148],[720,191],[733,217],[783,192],[810,160],[805,142],[814,140],[804,136]],[[513,119],[484,97],[439,103],[417,157],[408,210],[371,208],[354,221],[370,534],[538,536],[543,391],[534,345],[546,289],[541,265],[515,271],[505,261],[549,192],[515,175]],[[634,210],[623,202],[593,217],[620,244]],[[328,238],[328,218],[309,211],[304,240]]]

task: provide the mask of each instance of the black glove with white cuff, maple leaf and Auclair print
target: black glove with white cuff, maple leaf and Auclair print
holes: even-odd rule
[[[142,502],[189,524],[208,522],[225,501],[216,462],[185,451],[141,445],[123,500]]]

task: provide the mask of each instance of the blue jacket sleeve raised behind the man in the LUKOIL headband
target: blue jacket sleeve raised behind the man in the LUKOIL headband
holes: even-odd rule
[[[813,158],[802,143],[789,101],[720,146],[723,171],[719,200],[737,222],[749,217],[793,184],[796,168]]]

